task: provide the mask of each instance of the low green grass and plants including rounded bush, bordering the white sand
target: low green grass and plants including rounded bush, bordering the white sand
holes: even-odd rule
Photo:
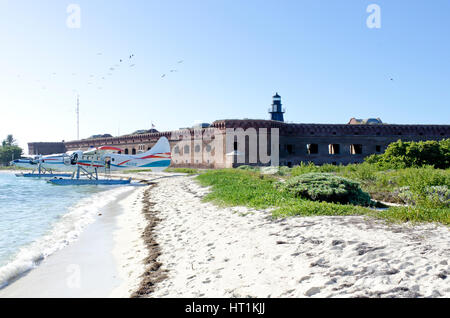
[[[302,164],[289,169],[285,176],[240,168],[209,170],[199,175],[197,180],[203,186],[211,186],[212,192],[205,200],[227,206],[272,208],[274,217],[370,215],[395,222],[450,224],[448,169],[426,166],[383,170],[369,163],[349,166]],[[306,185],[302,184],[303,181]],[[351,186],[347,188],[346,184]],[[341,191],[352,193],[348,203],[353,204],[342,204],[346,200],[334,197],[337,194],[339,197]],[[409,206],[368,208],[365,205],[370,198],[365,192],[372,198]],[[330,201],[341,203],[323,201],[327,196],[332,198]]]

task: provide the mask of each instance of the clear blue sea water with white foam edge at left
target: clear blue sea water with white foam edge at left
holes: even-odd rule
[[[123,190],[0,173],[0,288],[70,244]]]

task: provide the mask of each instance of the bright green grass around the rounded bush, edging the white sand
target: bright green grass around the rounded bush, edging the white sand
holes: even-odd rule
[[[322,167],[315,167],[313,169],[317,168],[319,168],[317,172],[321,172],[320,169]],[[363,167],[362,169],[366,168]],[[291,174],[294,175],[294,171],[296,170],[297,172],[295,174],[297,174],[300,169],[304,173],[310,172],[309,169],[300,167],[299,169],[293,168]],[[328,169],[328,167],[325,167],[325,169]],[[335,167],[335,169],[342,168]],[[354,170],[352,172],[354,176],[361,174],[361,171],[358,171],[359,168],[355,169],[355,167],[346,168],[343,171],[331,172],[340,174],[346,171],[351,172],[352,169]],[[413,172],[410,171],[409,173]],[[366,174],[366,172],[363,172],[362,175],[372,176],[371,173]],[[422,175],[422,177],[418,176],[417,178],[423,181],[424,178],[429,177]],[[352,204],[311,201],[296,197],[294,194],[286,191],[277,190],[276,185],[279,184],[280,178],[279,175],[263,175],[253,169],[209,170],[197,176],[197,180],[201,185],[211,187],[212,191],[205,197],[206,201],[212,201],[222,206],[247,206],[256,209],[271,208],[273,209],[273,217],[299,215],[369,215],[392,222],[440,222],[450,225],[450,209],[448,207],[433,206],[429,204],[430,202],[421,204],[420,206],[390,207],[384,210],[375,210]],[[403,178],[404,180],[399,178],[396,182],[401,184],[407,180],[411,180],[412,176],[403,176]],[[430,178],[427,180],[435,180],[435,176],[431,176]],[[370,179],[376,180],[376,177],[371,177]],[[440,180],[440,177],[437,177],[437,180]]]

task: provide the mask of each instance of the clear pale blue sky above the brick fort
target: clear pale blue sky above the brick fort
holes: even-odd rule
[[[0,0],[0,139],[75,140],[77,95],[80,138],[269,119],[275,92],[288,122],[449,124],[449,13],[448,0]]]

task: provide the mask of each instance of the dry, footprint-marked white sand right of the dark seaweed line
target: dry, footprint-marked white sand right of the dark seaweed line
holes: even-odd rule
[[[202,203],[191,177],[151,191],[168,271],[151,297],[449,297],[450,232],[364,217],[272,220]]]

